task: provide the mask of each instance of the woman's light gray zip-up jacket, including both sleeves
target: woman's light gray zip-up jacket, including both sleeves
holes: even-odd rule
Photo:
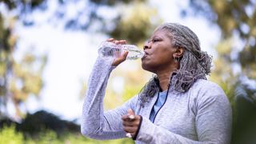
[[[150,111],[157,94],[142,107],[138,95],[114,110],[103,110],[103,98],[112,58],[97,58],[82,107],[81,132],[95,139],[125,138],[122,115],[131,108],[142,116],[136,143],[230,143],[231,108],[222,88],[213,82],[199,79],[186,93],[169,92],[154,123]]]

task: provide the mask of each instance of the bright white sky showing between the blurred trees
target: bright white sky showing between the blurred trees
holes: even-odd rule
[[[150,0],[150,3],[158,9],[164,22],[178,22],[194,30],[201,41],[202,50],[215,55],[214,45],[220,38],[219,30],[210,26],[204,18],[181,18],[179,7],[186,6],[187,1]],[[34,47],[38,54],[48,54],[48,62],[42,75],[42,93],[39,98],[30,97],[23,106],[24,110],[30,113],[47,110],[62,119],[79,121],[83,101],[79,93],[90,75],[97,57],[97,48],[107,36],[87,34],[84,31],[65,31],[47,23],[29,28],[20,25],[15,33],[19,35],[17,58],[30,50],[29,47]],[[10,113],[14,113],[13,106],[9,107]]]

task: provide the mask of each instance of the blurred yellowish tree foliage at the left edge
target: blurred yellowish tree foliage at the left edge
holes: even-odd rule
[[[42,88],[42,70],[46,56],[27,52],[23,58],[14,58],[17,36],[13,34],[14,18],[8,20],[0,15],[0,106],[1,117],[10,115],[6,110],[8,102],[13,102],[16,115],[22,117],[19,105],[30,95],[38,96]],[[4,23],[8,23],[4,26]]]

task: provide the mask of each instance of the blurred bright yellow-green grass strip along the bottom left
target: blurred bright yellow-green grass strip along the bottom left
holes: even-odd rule
[[[38,135],[38,138],[25,138],[21,132],[15,130],[15,126],[4,126],[0,130],[1,144],[132,144],[132,140],[128,138],[108,141],[97,141],[90,138],[85,138],[81,134],[64,134],[58,137],[53,130],[46,130]]]

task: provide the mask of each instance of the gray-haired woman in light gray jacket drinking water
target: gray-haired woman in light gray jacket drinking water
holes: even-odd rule
[[[222,88],[206,80],[211,58],[201,50],[196,34],[186,26],[166,23],[154,31],[144,51],[142,68],[156,76],[138,95],[105,113],[110,72],[128,53],[97,59],[82,108],[82,134],[96,139],[130,137],[136,143],[230,143],[230,103]]]

